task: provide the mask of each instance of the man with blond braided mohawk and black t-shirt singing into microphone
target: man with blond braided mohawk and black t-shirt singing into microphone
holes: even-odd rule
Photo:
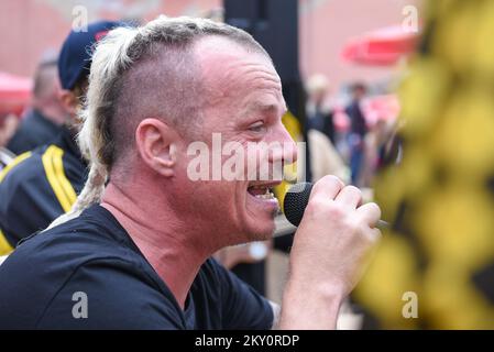
[[[79,135],[88,180],[72,212],[0,266],[0,329],[334,328],[380,237],[378,207],[333,176],[315,185],[279,314],[209,258],[270,239],[279,180],[188,175],[188,146],[213,134],[257,166],[295,160],[285,110],[272,61],[241,30],[158,18],[109,32]],[[263,153],[273,142],[288,147]]]

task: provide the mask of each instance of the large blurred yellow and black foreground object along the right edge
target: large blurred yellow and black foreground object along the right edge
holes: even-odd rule
[[[354,298],[384,328],[494,329],[494,1],[427,9],[399,89],[402,163],[375,185],[394,232]],[[406,290],[416,318],[402,315]]]

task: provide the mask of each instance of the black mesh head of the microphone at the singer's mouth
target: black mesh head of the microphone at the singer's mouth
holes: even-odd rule
[[[293,224],[298,227],[304,217],[304,211],[309,202],[310,191],[314,184],[311,183],[298,183],[288,189],[283,201],[283,212],[286,219]]]

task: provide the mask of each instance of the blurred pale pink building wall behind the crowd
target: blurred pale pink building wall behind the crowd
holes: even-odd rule
[[[254,1],[254,0],[246,0]],[[331,86],[352,80],[386,80],[389,67],[359,67],[341,59],[350,38],[403,23],[404,8],[418,0],[299,0],[299,54],[303,77],[321,73]],[[73,23],[97,19],[146,21],[166,15],[218,13],[222,0],[2,0],[0,70],[31,76],[48,48],[58,48]]]

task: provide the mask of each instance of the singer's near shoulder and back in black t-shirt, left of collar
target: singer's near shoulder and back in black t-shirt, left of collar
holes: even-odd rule
[[[109,231],[81,217],[20,244],[0,266],[0,328],[178,329],[172,299]],[[90,319],[78,319],[85,299]]]

